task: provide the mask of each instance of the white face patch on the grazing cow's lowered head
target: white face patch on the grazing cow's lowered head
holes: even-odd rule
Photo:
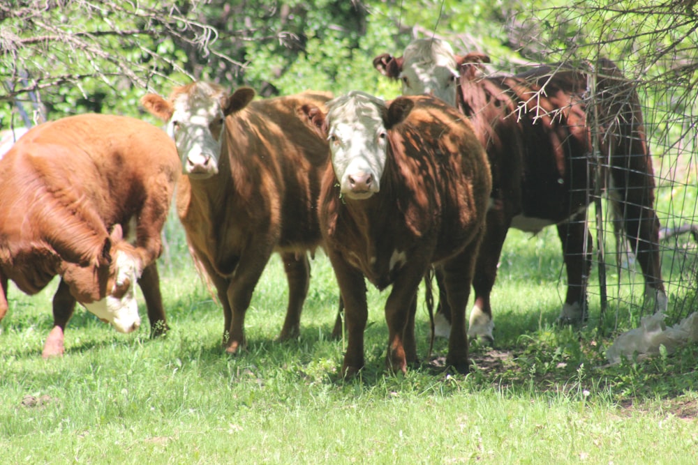
[[[140,277],[140,261],[122,250],[114,254],[115,277],[112,289],[102,300],[82,303],[89,312],[110,323],[119,333],[131,333],[140,326],[135,285]]]

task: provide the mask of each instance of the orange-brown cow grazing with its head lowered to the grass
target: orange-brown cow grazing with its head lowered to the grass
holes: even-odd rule
[[[122,333],[138,328],[138,280],[151,332],[163,333],[155,260],[179,171],[168,135],[138,119],[85,114],[29,130],[0,160],[0,319],[8,280],[36,294],[60,275],[43,356],[61,355],[76,302]]]

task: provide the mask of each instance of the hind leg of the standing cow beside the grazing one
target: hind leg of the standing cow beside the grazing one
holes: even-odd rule
[[[301,312],[308,295],[310,263],[306,253],[300,257],[294,253],[285,253],[281,254],[281,259],[286,280],[288,280],[288,308],[279,335],[279,340],[284,341],[298,337],[301,333]]]

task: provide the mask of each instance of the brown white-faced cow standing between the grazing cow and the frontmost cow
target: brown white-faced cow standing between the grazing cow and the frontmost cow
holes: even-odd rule
[[[329,96],[252,102],[252,89],[230,96],[216,84],[174,89],[169,100],[142,98],[168,122],[184,177],[177,211],[195,261],[218,293],[225,315],[225,350],[244,347],[244,318],[272,252],[288,278],[288,309],[280,340],[296,337],[310,277],[308,251],[320,244],[317,202],[327,167],[327,141],[297,112]],[[300,117],[302,116],[302,118]]]

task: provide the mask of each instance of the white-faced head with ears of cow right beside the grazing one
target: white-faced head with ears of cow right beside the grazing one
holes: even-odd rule
[[[217,84],[193,82],[174,89],[168,100],[149,93],[141,103],[168,123],[184,174],[205,179],[218,174],[225,116],[246,107],[254,96],[246,87],[228,96]]]

